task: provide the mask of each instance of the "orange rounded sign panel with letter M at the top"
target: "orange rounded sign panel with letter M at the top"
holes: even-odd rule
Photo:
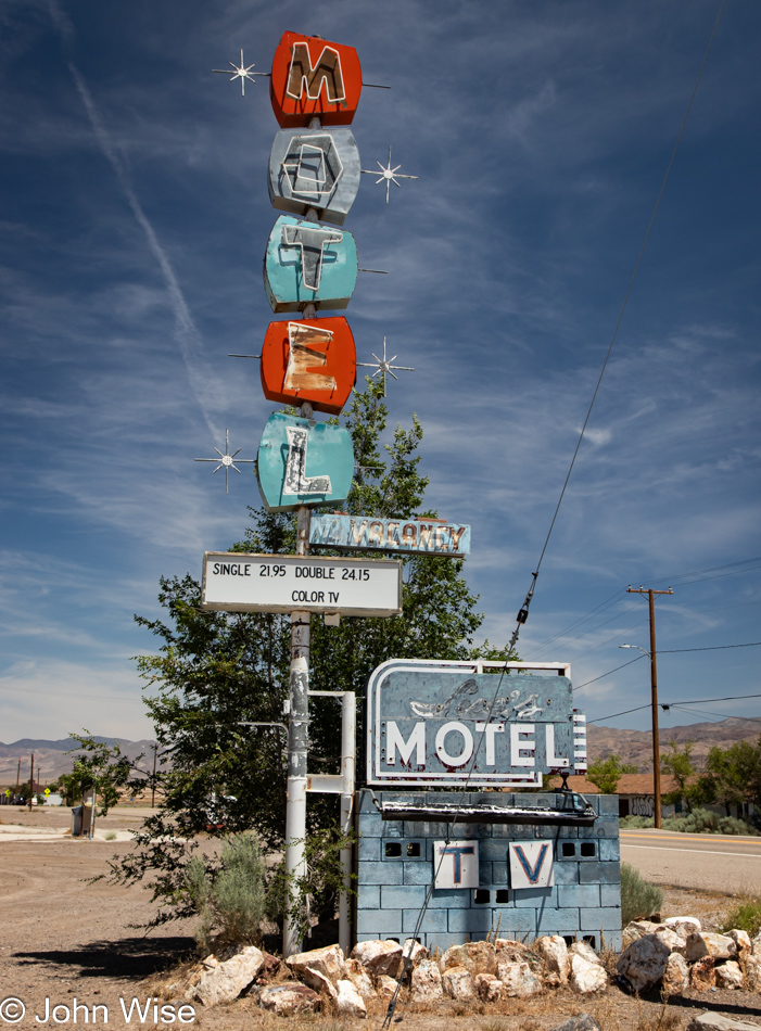
[[[318,36],[284,33],[272,59],[269,96],[283,129],[350,125],[362,93],[362,68],[354,47]]]

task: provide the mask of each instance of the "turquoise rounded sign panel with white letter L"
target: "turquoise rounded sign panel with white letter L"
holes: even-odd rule
[[[345,501],[354,475],[348,430],[272,412],[259,441],[256,474],[270,512]]]

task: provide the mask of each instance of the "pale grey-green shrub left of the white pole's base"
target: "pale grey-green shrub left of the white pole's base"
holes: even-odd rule
[[[219,868],[210,871],[199,855],[185,870],[190,901],[200,916],[199,947],[258,944],[266,913],[264,860],[253,835],[236,835],[223,845]]]

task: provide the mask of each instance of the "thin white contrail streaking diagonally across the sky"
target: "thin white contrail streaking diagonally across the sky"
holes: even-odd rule
[[[50,3],[50,13],[55,23],[61,37],[63,39],[66,50],[71,50],[74,41],[74,28],[68,18],[68,15],[62,10],[58,0],[49,0]],[[129,175],[125,167],[124,160],[118,153],[116,148],[111,141],[109,132],[106,131],[103,122],[100,117],[98,109],[92,100],[92,94],[87,88],[87,84],[79,74],[79,69],[72,62],[68,61],[68,71],[72,74],[77,92],[81,98],[81,102],[85,105],[87,115],[90,119],[90,125],[92,126],[92,131],[96,135],[96,139],[103,151],[103,154],[107,158],[111,167],[114,169],[114,174],[122,187],[124,195],[129,204],[135,219],[145,233],[145,239],[148,241],[148,246],[153,254],[153,257],[156,259],[156,264],[161,269],[161,273],[164,278],[164,284],[166,287],[166,292],[168,294],[169,305],[175,316],[175,340],[182,355],[182,360],[185,361],[186,369],[188,370],[188,379],[190,380],[190,386],[195,395],[195,399],[199,403],[203,418],[208,427],[208,430],[213,437],[217,437],[219,431],[217,427],[212,421],[208,408],[221,408],[224,407],[224,398],[221,393],[221,384],[219,384],[214,377],[206,357],[204,355],[203,339],[201,333],[193,321],[193,317],[190,314],[190,308],[188,303],[185,300],[180,284],[177,281],[177,276],[175,270],[172,267],[172,263],[166,255],[166,251],[161,245],[158,238],[156,237],[155,230],[151,225],[148,216],[142,209],[142,205],[138,200],[138,196],[135,192],[132,183],[129,179]]]

